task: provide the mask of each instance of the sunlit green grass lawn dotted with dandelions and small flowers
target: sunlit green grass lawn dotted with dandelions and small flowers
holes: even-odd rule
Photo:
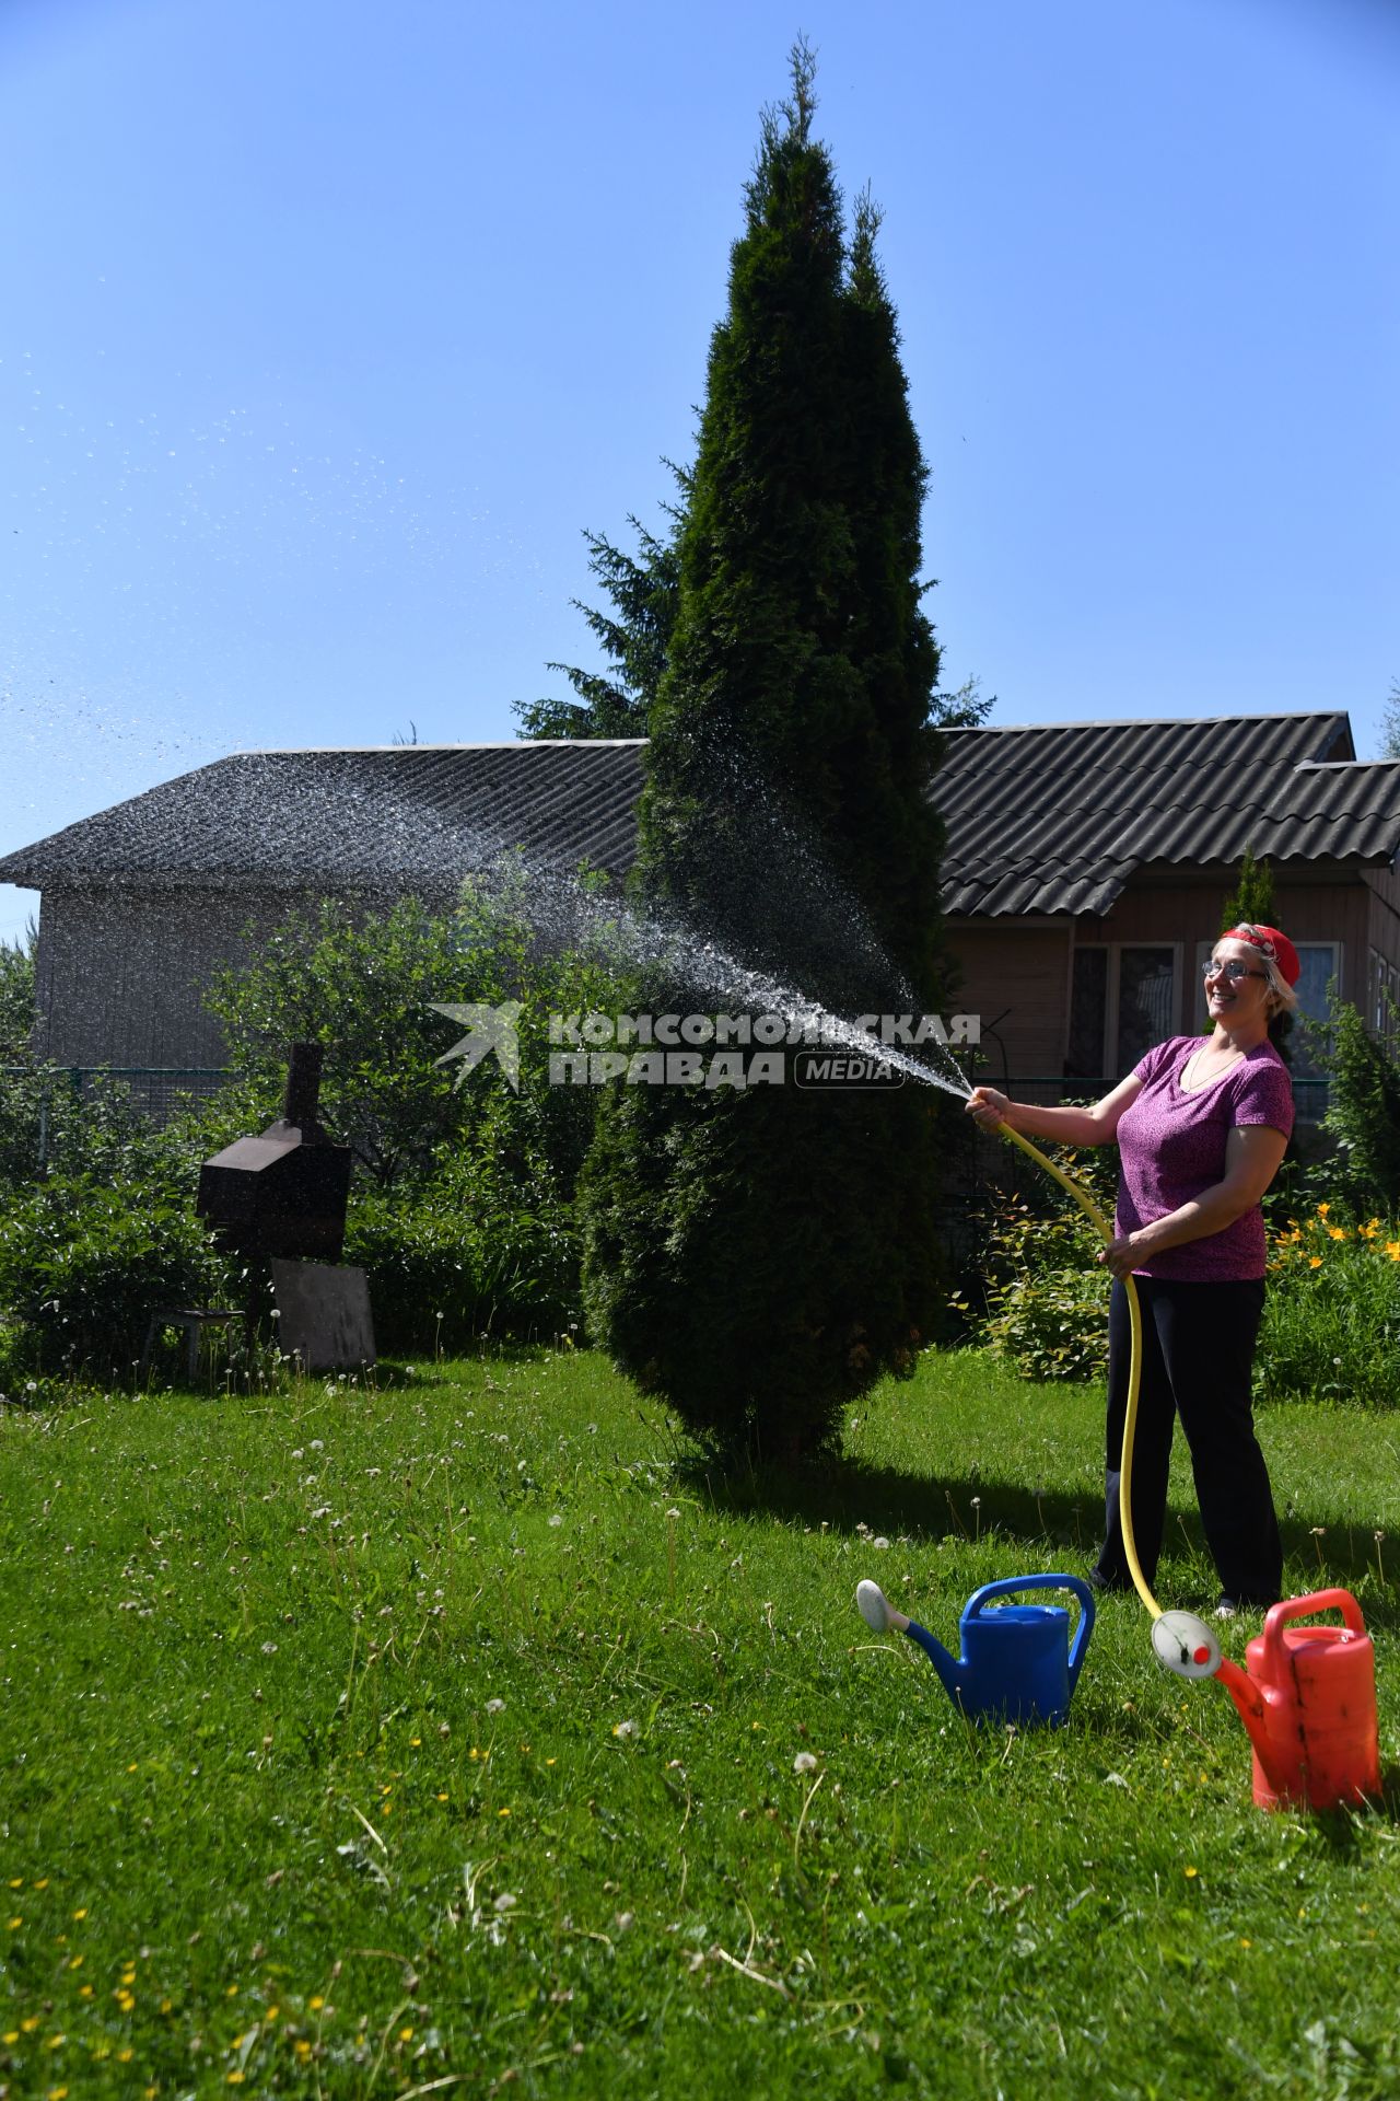
[[[1261,1429],[1394,1775],[1400,1416]],[[6,1412],[0,2093],[1396,2095],[1394,1784],[1255,1811],[1131,1599],[1024,1735],[854,1611],[1081,1572],[1094,1393],[930,1355],[848,1450],[724,1483],[592,1355]]]

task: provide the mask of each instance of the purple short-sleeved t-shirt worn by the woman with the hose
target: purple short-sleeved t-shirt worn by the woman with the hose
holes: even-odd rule
[[[1293,1130],[1293,1082],[1270,1042],[1255,1044],[1219,1080],[1188,1095],[1182,1069],[1205,1042],[1205,1036],[1173,1036],[1133,1065],[1142,1093],[1119,1118],[1119,1237],[1224,1181],[1234,1124],[1270,1124],[1285,1139]],[[1133,1273],[1178,1284],[1236,1282],[1261,1277],[1264,1254],[1264,1212],[1255,1204],[1224,1231],[1152,1254]]]

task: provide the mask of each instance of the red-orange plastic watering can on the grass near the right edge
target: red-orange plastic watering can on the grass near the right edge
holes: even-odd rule
[[[1345,1626],[1287,1624],[1316,1611],[1339,1611]],[[1333,1809],[1379,1794],[1375,1653],[1352,1593],[1282,1599],[1247,1656],[1249,1670],[1226,1658],[1215,1674],[1249,1729],[1259,1809]]]

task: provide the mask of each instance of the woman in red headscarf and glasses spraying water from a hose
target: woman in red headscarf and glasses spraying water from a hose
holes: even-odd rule
[[[1148,1584],[1167,1515],[1173,1420],[1190,1445],[1205,1538],[1219,1574],[1217,1616],[1272,1605],[1282,1546],[1253,1429],[1249,1374],[1264,1315],[1264,1212],[1293,1130],[1289,1069],[1270,1019],[1297,1006],[1297,950],[1276,927],[1232,927],[1205,966],[1215,1029],[1173,1036],[1091,1109],[1037,1109],[978,1086],[968,1114],[987,1130],[1108,1145],[1121,1156],[1117,1237],[1100,1263],[1108,1307],[1106,1538],[1089,1582],[1129,1586],[1119,1519],[1129,1313],[1142,1301],[1142,1395],[1133,1441],[1133,1542]]]

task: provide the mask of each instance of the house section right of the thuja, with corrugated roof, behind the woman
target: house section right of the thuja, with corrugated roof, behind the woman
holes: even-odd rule
[[[1091,1095],[1203,1025],[1201,966],[1249,847],[1301,960],[1379,1032],[1400,990],[1400,761],[1358,763],[1343,712],[945,731],[942,908],[991,1074]],[[1299,1114],[1322,1105],[1295,1040]],[[1308,1084],[1312,1080],[1312,1084]]]

